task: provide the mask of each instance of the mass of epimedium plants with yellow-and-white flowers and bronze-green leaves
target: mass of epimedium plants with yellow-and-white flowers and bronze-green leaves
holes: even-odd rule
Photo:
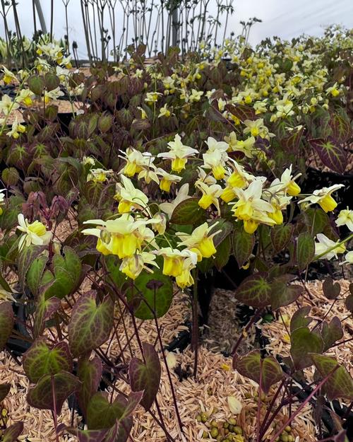
[[[310,167],[325,166],[337,179],[349,173],[351,42],[352,33],[339,29],[256,50],[229,40],[182,60],[172,49],[152,66],[144,65],[141,46],[128,63],[92,67],[88,77],[68,70],[70,57],[49,43],[32,71],[4,69],[16,96],[0,102],[0,347],[10,349],[10,337],[29,342],[21,361],[31,384],[27,400],[52,411],[56,438],[68,431],[79,441],[126,441],[141,405],[174,441],[157,401],[162,359],[182,428],[158,318],[177,290],[190,293],[197,376],[200,275],[225,269],[231,256],[233,268],[247,272],[232,281],[239,303],[254,309],[246,331],[269,308],[298,307],[288,325],[290,357],[266,348],[238,356],[243,335],[234,344],[234,368],[259,385],[257,441],[282,407],[300,402],[271,442],[314,396],[323,412],[325,401],[347,401],[349,414],[353,380],[330,352],[345,344],[342,323],[328,322],[328,310],[313,324],[301,299],[310,296],[313,263],[345,254],[342,268],[352,264],[353,212],[337,209],[342,182],[301,189]],[[53,104],[64,93],[80,100],[69,124]],[[24,122],[8,125],[16,110]],[[65,238],[57,233],[61,223]],[[85,279],[90,289],[83,293]],[[352,316],[352,286],[340,293],[325,279],[323,291]],[[13,303],[25,306],[25,318],[16,317]],[[125,318],[133,332],[124,326],[119,335]],[[155,324],[155,346],[141,342],[136,318]],[[114,360],[107,353],[112,339],[121,349]],[[129,353],[130,339],[140,354]],[[306,385],[311,366],[316,375]],[[292,386],[299,381],[298,392]],[[263,415],[261,392],[270,390]],[[2,385],[1,398],[7,392]],[[58,424],[68,397],[86,429]],[[343,440],[342,424],[343,414],[328,438]],[[5,440],[21,430],[20,423],[9,427]]]

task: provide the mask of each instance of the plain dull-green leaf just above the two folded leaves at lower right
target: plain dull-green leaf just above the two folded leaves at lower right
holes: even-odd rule
[[[311,366],[310,353],[322,353],[323,339],[315,332],[311,332],[308,327],[297,328],[290,336],[291,349],[294,366],[297,370]]]

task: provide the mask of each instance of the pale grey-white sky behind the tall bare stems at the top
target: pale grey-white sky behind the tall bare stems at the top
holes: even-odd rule
[[[21,29],[25,35],[32,35],[32,1],[17,0]],[[49,28],[50,1],[41,0],[42,8]],[[210,0],[210,13],[215,12],[215,0]],[[256,44],[263,38],[278,35],[292,38],[301,33],[320,35],[323,27],[332,23],[341,23],[347,28],[353,28],[353,0],[234,0],[235,13],[229,20],[229,32],[241,31],[239,21],[256,16],[263,23],[258,23],[251,30],[250,42]],[[62,0],[54,0],[54,34],[62,37],[65,33],[64,6]],[[85,55],[85,40],[80,11],[80,0],[70,0],[68,4],[69,28],[71,41],[78,42],[80,58]],[[8,21],[14,29],[12,13]],[[121,16],[116,17],[119,29]],[[121,25],[120,25],[121,27]],[[4,36],[4,23],[0,17],[0,35]]]

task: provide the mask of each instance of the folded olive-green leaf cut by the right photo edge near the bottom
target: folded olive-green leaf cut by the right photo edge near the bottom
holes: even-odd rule
[[[323,378],[339,365],[335,358],[323,356],[323,354],[311,354],[311,359]],[[324,389],[330,401],[339,397],[346,398],[349,401],[353,400],[353,379],[344,366],[337,368],[328,378],[324,384]]]

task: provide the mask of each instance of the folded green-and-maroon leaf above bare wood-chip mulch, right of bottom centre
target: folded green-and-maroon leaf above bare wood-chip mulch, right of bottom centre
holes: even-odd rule
[[[258,350],[253,350],[245,356],[234,359],[233,366],[241,376],[246,376],[246,378],[252,379],[258,384],[260,383],[261,374],[261,388],[265,393],[268,393],[271,385],[283,378],[282,368],[276,359],[273,356],[261,359]]]

